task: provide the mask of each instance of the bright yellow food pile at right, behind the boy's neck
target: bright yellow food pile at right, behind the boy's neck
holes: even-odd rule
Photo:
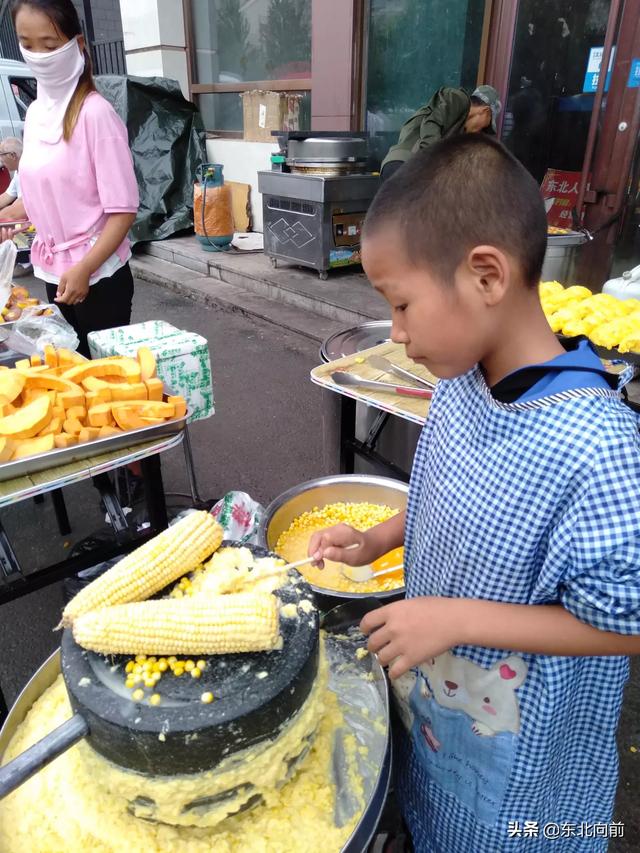
[[[596,346],[621,353],[640,352],[640,300],[543,281],[540,301],[554,332],[568,337],[586,335]]]

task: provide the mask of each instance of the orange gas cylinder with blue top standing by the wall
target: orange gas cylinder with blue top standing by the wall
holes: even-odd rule
[[[224,182],[220,163],[203,163],[196,169],[193,187],[193,224],[205,252],[224,252],[233,239],[231,189]]]

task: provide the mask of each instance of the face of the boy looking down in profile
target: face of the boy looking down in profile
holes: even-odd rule
[[[390,304],[391,338],[405,345],[409,358],[441,379],[460,376],[483,359],[492,319],[482,289],[464,264],[453,282],[443,283],[409,263],[392,225],[364,239],[362,264]]]

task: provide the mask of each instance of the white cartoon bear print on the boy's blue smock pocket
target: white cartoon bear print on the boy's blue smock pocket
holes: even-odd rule
[[[477,735],[517,734],[520,708],[515,691],[524,683],[527,669],[516,655],[484,669],[447,651],[420,667],[426,679],[421,693],[425,698],[432,693],[444,708],[464,711],[473,720],[471,728]]]

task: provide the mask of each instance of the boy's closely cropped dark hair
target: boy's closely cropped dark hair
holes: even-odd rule
[[[518,262],[523,281],[540,281],[547,219],[540,189],[499,142],[467,134],[418,151],[385,183],[367,213],[364,236],[400,228],[411,263],[452,283],[474,246]]]

